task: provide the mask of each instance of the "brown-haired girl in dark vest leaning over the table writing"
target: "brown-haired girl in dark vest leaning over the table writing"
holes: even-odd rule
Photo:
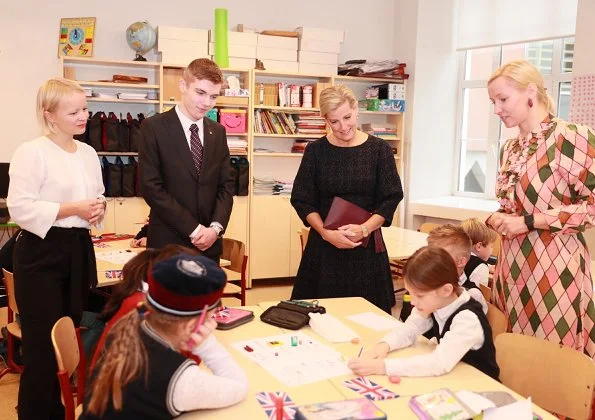
[[[361,357],[349,361],[356,375],[440,376],[463,361],[498,379],[492,329],[481,304],[459,287],[452,257],[442,248],[423,247],[407,261],[405,287],[414,308],[407,320]],[[433,352],[385,359],[390,351],[435,339]]]

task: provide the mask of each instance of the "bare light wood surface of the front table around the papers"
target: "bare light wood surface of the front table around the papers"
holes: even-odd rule
[[[289,332],[289,330],[283,330],[272,325],[264,324],[259,319],[262,311],[277,303],[278,302],[261,302],[258,307],[248,307],[248,309],[254,311],[256,316],[254,321],[232,330],[215,332],[217,338],[230,349],[234,359],[245,369],[246,374],[248,375],[250,390],[246,399],[232,407],[219,410],[196,411],[187,413],[180,418],[186,420],[210,418],[266,419],[267,417],[264,411],[255,398],[255,394],[260,391],[286,391],[297,405],[358,398],[356,392],[351,391],[342,383],[344,380],[354,378],[354,375],[336,377],[304,386],[287,387],[231,347],[231,344],[236,341]],[[352,358],[357,355],[362,345],[364,346],[364,349],[373,346],[385,334],[385,332],[374,331],[346,319],[348,315],[361,312],[374,312],[382,316],[389,316],[363,298],[320,299],[320,304],[327,309],[327,312],[339,318],[347,326],[353,328],[362,337],[362,341],[358,344],[328,343],[324,338],[314,333],[310,327],[304,327],[300,331],[312,335],[317,340],[339,351],[346,358]],[[428,353],[431,352],[432,349],[433,346],[429,344],[427,340],[422,339],[413,347],[390,353],[389,357],[397,358]],[[400,384],[390,383],[388,377],[383,375],[373,375],[369,378],[383,387],[401,395],[400,398],[394,400],[375,402],[375,404],[388,415],[389,419],[417,419],[417,416],[408,407],[409,397],[440,388],[450,388],[453,391],[506,391],[517,398],[521,398],[518,394],[506,388],[501,383],[493,380],[466,363],[459,363],[450,373],[440,377],[402,378]],[[533,411],[545,420],[556,419],[554,416],[536,405],[533,405]]]

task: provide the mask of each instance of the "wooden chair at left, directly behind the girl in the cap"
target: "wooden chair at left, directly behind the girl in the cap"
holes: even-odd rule
[[[70,317],[64,316],[56,321],[52,328],[52,344],[58,362],[58,381],[64,404],[65,420],[74,420],[82,412],[85,396],[85,352],[81,342],[80,330],[74,327]],[[70,379],[76,372],[76,389]],[[76,401],[75,401],[76,394]]]

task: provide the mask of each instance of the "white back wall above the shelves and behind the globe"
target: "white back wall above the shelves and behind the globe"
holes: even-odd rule
[[[46,79],[60,75],[58,26],[62,17],[95,16],[96,58],[132,59],[125,29],[138,20],[153,26],[210,28],[214,9],[228,9],[228,24],[257,30],[298,26],[345,29],[340,59],[394,58],[395,0],[17,0],[2,1],[0,12],[0,161],[39,134],[35,95]],[[147,59],[155,60],[149,53]]]

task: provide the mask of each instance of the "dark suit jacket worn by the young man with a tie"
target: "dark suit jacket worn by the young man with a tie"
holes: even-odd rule
[[[219,222],[224,229],[227,227],[233,205],[233,179],[225,128],[206,117],[203,124],[199,177],[174,108],[142,122],[139,186],[151,207],[148,247],[193,247],[189,235],[199,223],[209,226]],[[219,258],[221,239],[203,254]]]

